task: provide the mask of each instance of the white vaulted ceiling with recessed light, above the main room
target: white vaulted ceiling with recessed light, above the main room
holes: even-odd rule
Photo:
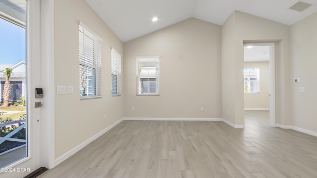
[[[86,0],[122,42],[190,17],[222,25],[234,10],[286,25],[317,12],[317,0],[302,12],[289,9],[299,0]],[[154,16],[157,22],[152,22]]]

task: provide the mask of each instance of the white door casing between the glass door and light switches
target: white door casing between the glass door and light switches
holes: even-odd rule
[[[41,166],[55,167],[54,142],[54,0],[41,0],[41,85],[42,98]]]

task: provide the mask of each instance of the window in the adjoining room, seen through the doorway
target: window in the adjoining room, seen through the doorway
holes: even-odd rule
[[[244,69],[244,92],[260,93],[260,69]]]

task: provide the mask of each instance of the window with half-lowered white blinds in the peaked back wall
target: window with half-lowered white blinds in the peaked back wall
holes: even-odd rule
[[[137,95],[159,95],[159,56],[136,59]]]

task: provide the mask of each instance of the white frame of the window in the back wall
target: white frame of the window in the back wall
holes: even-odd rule
[[[136,95],[137,96],[159,96],[159,56],[136,56],[136,76],[137,76],[137,85],[136,85]],[[148,65],[145,67],[156,67],[155,69],[155,74],[152,75],[140,75],[140,60],[152,60],[152,61],[156,61],[154,63],[152,63],[152,65]],[[143,65],[146,63],[142,63]],[[148,63],[150,64],[150,63]],[[144,67],[144,66],[143,66]],[[148,93],[140,93],[140,87],[141,86],[141,79],[156,79],[156,92],[148,92]],[[150,81],[149,81],[150,82]],[[150,83],[148,86],[148,91],[150,91],[151,87],[150,87]]]

